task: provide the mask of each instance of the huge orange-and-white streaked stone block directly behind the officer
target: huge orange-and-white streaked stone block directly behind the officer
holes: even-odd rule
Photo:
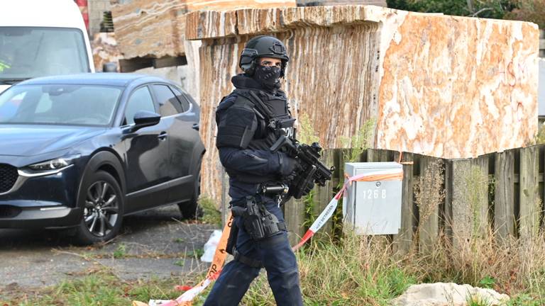
[[[283,85],[323,147],[374,120],[373,147],[468,158],[522,147],[536,133],[539,33],[533,23],[412,13],[379,6],[192,12],[199,78],[203,189],[219,190],[214,108],[240,72],[244,42],[272,34],[290,63]]]

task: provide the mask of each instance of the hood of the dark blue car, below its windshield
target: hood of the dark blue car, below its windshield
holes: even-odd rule
[[[59,125],[0,125],[0,155],[24,157],[55,152],[105,130]]]

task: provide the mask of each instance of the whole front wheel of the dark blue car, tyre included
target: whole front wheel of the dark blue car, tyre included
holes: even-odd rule
[[[77,241],[81,244],[105,242],[116,236],[123,219],[123,193],[114,176],[97,171],[84,179],[79,196],[83,208],[77,226]]]

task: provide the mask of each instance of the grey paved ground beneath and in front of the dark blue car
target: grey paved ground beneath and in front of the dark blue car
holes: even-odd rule
[[[211,225],[180,222],[177,206],[126,217],[122,234],[103,246],[70,246],[53,231],[0,229],[0,292],[54,285],[111,268],[123,280],[203,271],[198,259]]]

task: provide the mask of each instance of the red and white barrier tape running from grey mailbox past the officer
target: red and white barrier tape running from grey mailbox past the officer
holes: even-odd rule
[[[343,196],[343,193],[346,191],[346,188],[355,181],[402,181],[403,180],[403,169],[387,169],[382,171],[373,171],[367,174],[360,174],[357,176],[352,176],[346,180],[346,182],[343,185],[343,188],[341,188],[340,191],[334,196],[334,198],[329,201],[329,204],[324,208],[324,210],[320,213],[320,215],[316,218],[314,223],[309,227],[307,232],[303,235],[301,241],[293,246],[293,250],[296,251],[299,249],[305,242],[307,242],[312,236],[314,236],[314,233],[318,232],[321,227],[323,227],[326,222],[331,218],[331,216],[334,214],[338,200],[341,199],[341,196]],[[192,305],[192,300],[194,300],[199,293],[202,293],[204,289],[210,285],[216,278],[218,278],[219,273],[221,273],[221,267],[224,266],[225,258],[227,256],[226,254],[226,246],[227,246],[227,238],[229,238],[229,232],[231,232],[231,223],[233,222],[233,217],[229,215],[229,222],[224,227],[224,231],[221,234],[221,239],[219,241],[219,244],[216,248],[216,254],[214,254],[214,261],[212,261],[212,264],[208,271],[208,276],[202,282],[194,286],[193,288],[189,288],[187,286],[177,286],[177,288],[183,290],[183,289],[189,289],[184,294],[180,295],[176,300],[170,300],[170,301],[154,301],[150,300],[150,305],[145,304],[143,302],[133,301],[133,306],[190,306]]]

